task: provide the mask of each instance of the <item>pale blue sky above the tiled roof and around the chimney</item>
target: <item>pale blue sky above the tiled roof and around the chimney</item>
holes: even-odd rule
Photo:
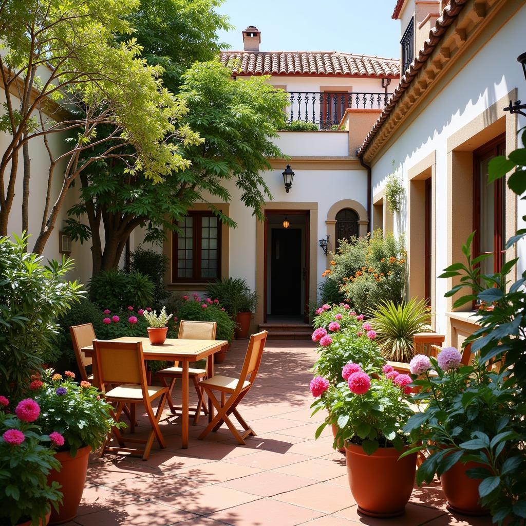
[[[218,9],[236,29],[220,32],[231,49],[242,49],[241,31],[255,25],[262,51],[343,51],[398,58],[400,22],[396,0],[225,0]]]

